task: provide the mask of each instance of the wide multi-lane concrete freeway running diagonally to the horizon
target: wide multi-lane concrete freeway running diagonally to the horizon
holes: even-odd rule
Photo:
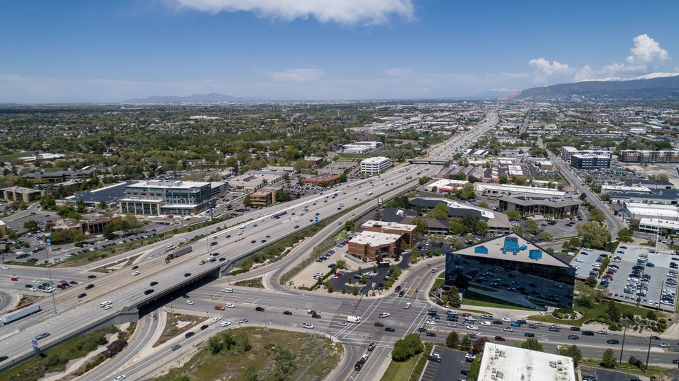
[[[453,158],[457,150],[460,150],[460,145],[463,147],[468,146],[469,141],[485,133],[495,123],[497,123],[497,113],[491,112],[489,119],[482,123],[482,125],[453,138],[448,144],[435,147],[432,154],[449,160]],[[461,144],[463,140],[464,144]],[[319,216],[319,220],[324,220],[335,216],[335,214],[344,213],[342,210],[344,202],[347,205],[355,205],[356,203],[361,203],[363,201],[362,198],[365,197],[366,203],[375,203],[377,196],[389,192],[390,189],[408,189],[417,181],[407,181],[406,176],[415,176],[417,171],[419,171],[417,176],[431,176],[435,174],[438,168],[435,165],[409,165],[401,170],[386,172],[377,178],[373,177],[341,185],[328,191],[329,194],[326,195],[313,195],[267,209],[267,212],[270,214],[279,212],[282,209],[288,210],[286,218],[282,218],[282,220],[272,219],[269,217],[270,214],[260,214],[257,218],[253,218],[256,212],[251,212],[246,216],[240,217],[242,221],[245,221],[247,218],[253,218],[248,222],[242,223],[247,225],[243,229],[244,233],[242,236],[237,235],[237,227],[227,227],[217,234],[206,237],[204,248],[200,243],[194,243],[193,248],[195,250],[193,253],[173,260],[170,265],[164,265],[162,256],[151,256],[150,254],[161,254],[165,251],[164,247],[166,245],[173,244],[176,247],[185,238],[201,234],[199,231],[181,234],[151,247],[133,250],[132,255],[143,256],[139,260],[139,275],[135,276],[130,274],[130,272],[126,273],[125,269],[100,275],[97,282],[92,283],[95,284],[94,291],[88,291],[88,295],[83,298],[76,298],[77,294],[83,291],[79,287],[59,291],[55,296],[59,313],[50,311],[51,307],[45,308],[43,313],[26,318],[20,323],[17,322],[13,325],[0,328],[0,353],[12,353],[14,358],[28,356],[31,352],[30,340],[41,332],[50,332],[52,335],[43,339],[40,344],[55,344],[61,340],[66,340],[75,336],[80,331],[92,327],[92,325],[112,318],[121,311],[126,311],[130,308],[135,309],[135,307],[144,305],[149,300],[162,296],[176,287],[188,285],[222,267],[220,262],[199,264],[199,258],[207,258],[208,253],[226,250],[226,253],[222,251],[222,258],[226,258],[229,261],[243,258],[265,247],[266,245],[264,244],[282,239],[292,234],[296,229],[313,225],[316,213]],[[368,201],[367,194],[362,196],[366,190],[374,193],[372,200]],[[335,195],[335,193],[337,194]],[[333,195],[332,198],[330,194]],[[313,203],[319,205],[312,207]],[[310,211],[300,212],[300,209],[308,204],[312,204],[309,205]],[[299,215],[296,213],[299,213]],[[303,213],[306,213],[306,216]],[[237,226],[241,224],[240,220],[229,220],[227,223]],[[341,225],[341,221],[339,224]],[[214,246],[209,245],[209,243],[213,242],[213,238],[217,238],[214,240],[216,243]],[[130,256],[130,253],[125,255]],[[114,259],[111,258],[110,261],[112,260]],[[158,283],[157,285],[150,286],[150,282]],[[155,287],[154,291],[150,295],[144,295],[144,291],[149,290],[150,287]],[[299,298],[298,294],[295,294],[295,297]],[[114,307],[108,311],[99,308],[99,302],[103,300],[111,300]],[[82,318],[82,316],[87,316],[87,318]],[[344,333],[338,334],[345,338],[348,337]],[[384,333],[382,334],[384,335]]]

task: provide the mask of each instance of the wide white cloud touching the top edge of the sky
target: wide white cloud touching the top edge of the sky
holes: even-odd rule
[[[203,12],[254,12],[291,21],[313,17],[322,23],[383,24],[391,15],[413,19],[412,0],[165,0]]]

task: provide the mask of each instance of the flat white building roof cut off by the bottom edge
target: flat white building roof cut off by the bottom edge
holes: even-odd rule
[[[575,381],[573,359],[486,342],[478,381]]]

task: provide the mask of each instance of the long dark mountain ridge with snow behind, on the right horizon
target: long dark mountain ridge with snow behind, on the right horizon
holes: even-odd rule
[[[513,92],[504,100],[535,99],[570,101],[598,100],[679,100],[679,73],[656,73],[633,79],[603,79],[560,83]]]

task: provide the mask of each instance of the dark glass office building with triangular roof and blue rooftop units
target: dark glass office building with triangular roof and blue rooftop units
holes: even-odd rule
[[[571,308],[575,267],[508,234],[446,254],[445,285],[473,300],[540,310]]]

